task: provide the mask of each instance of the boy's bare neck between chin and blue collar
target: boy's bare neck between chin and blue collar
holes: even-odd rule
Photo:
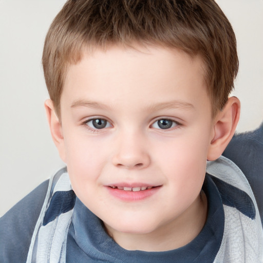
[[[202,230],[207,215],[204,192],[176,220],[168,222],[151,233],[118,232],[105,225],[108,234],[126,250],[168,251],[185,246]]]

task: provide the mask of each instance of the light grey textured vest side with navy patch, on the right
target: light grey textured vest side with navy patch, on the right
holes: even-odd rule
[[[223,238],[215,261],[261,262],[263,232],[258,205],[248,180],[240,168],[225,157],[208,162],[207,171],[216,185],[224,210]]]

